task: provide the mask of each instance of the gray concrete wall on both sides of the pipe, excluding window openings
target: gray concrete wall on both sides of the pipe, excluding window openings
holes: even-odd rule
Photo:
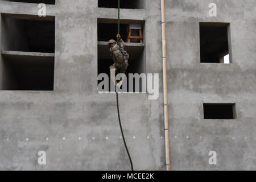
[[[210,2],[217,3],[216,18],[208,17]],[[174,170],[256,169],[255,5],[166,1]],[[0,1],[1,13],[37,11],[35,4]],[[0,169],[129,170],[115,95],[97,92],[97,18],[116,18],[117,10],[98,9],[95,0],[57,0],[47,15],[56,16],[55,90],[0,91]],[[146,20],[146,72],[160,73],[162,81],[160,1],[147,0],[145,10],[122,10],[121,18]],[[230,23],[232,64],[200,63],[199,22]],[[154,101],[147,94],[119,97],[136,170],[165,169],[162,84],[159,91]],[[234,102],[237,119],[205,120],[203,102]],[[40,150],[47,153],[46,166],[37,163]],[[217,152],[216,166],[208,164],[211,150]]]

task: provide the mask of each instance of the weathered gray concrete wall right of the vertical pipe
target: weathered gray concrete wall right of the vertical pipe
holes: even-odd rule
[[[212,2],[217,17],[209,18]],[[255,5],[250,0],[167,1],[172,169],[256,169]],[[230,23],[232,64],[200,63],[199,22]],[[237,119],[203,119],[204,102],[236,103]],[[212,150],[216,166],[208,164]]]

